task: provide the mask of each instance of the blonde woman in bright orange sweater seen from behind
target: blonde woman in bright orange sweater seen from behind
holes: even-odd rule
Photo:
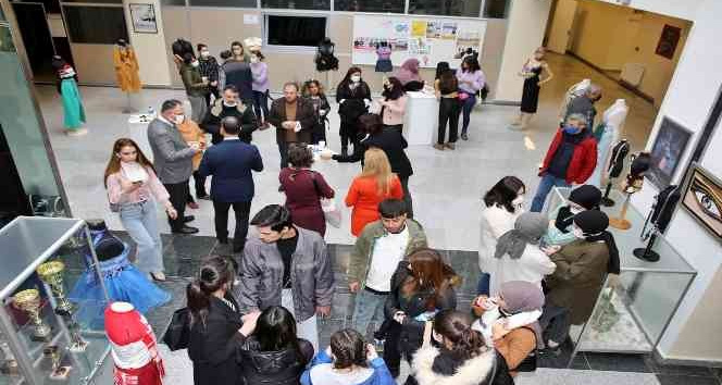
[[[363,227],[378,221],[378,203],[384,199],[402,199],[403,189],[384,150],[370,148],[363,154],[363,172],[353,179],[346,196],[346,206],[352,207],[351,234],[359,236]]]

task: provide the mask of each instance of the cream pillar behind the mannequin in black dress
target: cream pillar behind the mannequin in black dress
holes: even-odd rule
[[[509,13],[507,41],[496,85],[496,100],[520,101],[524,79],[519,71],[534,50],[542,45],[549,18],[551,0],[513,0]]]

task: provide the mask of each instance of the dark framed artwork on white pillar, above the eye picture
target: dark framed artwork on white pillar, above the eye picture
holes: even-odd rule
[[[690,138],[690,131],[669,116],[662,119],[651,147],[651,164],[645,174],[660,190],[672,181]]]

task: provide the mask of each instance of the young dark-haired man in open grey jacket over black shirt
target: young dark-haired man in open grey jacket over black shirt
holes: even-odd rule
[[[271,306],[288,309],[297,335],[319,349],[316,314],[328,316],[334,273],[319,233],[295,226],[283,206],[269,204],[251,220],[258,235],[246,241],[237,297],[242,313]]]

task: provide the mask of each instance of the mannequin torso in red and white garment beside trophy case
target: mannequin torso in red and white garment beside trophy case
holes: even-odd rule
[[[105,309],[105,334],[111,341],[115,385],[162,385],[165,371],[153,330],[132,303]]]

